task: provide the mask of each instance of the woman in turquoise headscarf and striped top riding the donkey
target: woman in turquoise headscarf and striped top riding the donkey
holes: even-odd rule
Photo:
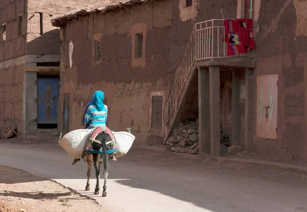
[[[96,91],[92,96],[90,103],[86,105],[83,115],[85,129],[94,129],[98,127],[106,128],[107,106],[103,103],[103,99],[104,93],[102,91]],[[115,156],[112,156],[111,158],[116,160]],[[72,165],[75,165],[79,161],[80,158],[75,159]]]

